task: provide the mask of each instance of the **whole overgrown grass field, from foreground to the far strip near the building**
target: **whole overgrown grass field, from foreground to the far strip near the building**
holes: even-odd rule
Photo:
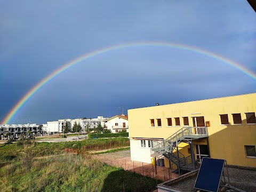
[[[121,139],[121,140],[118,140]],[[151,191],[155,179],[124,171],[89,155],[65,154],[68,146],[125,141],[93,139],[62,143],[12,143],[0,146],[1,191]],[[125,143],[125,142],[123,142]],[[63,146],[61,146],[63,145]],[[75,147],[76,146],[76,147]],[[52,155],[35,158],[36,156]],[[62,154],[62,155],[57,155]]]

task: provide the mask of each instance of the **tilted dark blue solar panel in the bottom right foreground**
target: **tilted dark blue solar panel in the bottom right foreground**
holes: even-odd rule
[[[204,157],[194,188],[217,192],[225,160]]]

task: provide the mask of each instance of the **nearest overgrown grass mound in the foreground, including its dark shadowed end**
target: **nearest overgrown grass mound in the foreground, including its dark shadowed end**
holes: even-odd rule
[[[66,154],[30,162],[31,156],[0,168],[1,191],[151,191],[161,182],[89,156]]]

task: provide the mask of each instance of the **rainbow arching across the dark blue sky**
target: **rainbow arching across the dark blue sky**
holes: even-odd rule
[[[187,50],[187,51],[203,54],[203,55],[206,55],[207,57],[210,57],[210,58],[213,58],[216,60],[220,60],[231,67],[241,70],[244,74],[246,74],[246,75],[252,77],[254,80],[256,80],[256,74],[253,71],[246,69],[239,63],[232,61],[230,59],[227,59],[225,57],[222,57],[219,54],[200,49],[198,47],[189,46],[189,45],[185,45],[185,44],[167,43],[167,42],[137,42],[137,43],[119,44],[119,45],[109,46],[109,47],[105,47],[100,50],[86,53],[86,54],[82,55],[81,57],[66,63],[65,65],[61,66],[57,70],[53,71],[51,74],[47,75],[40,82],[38,82],[34,87],[32,87],[25,95],[23,95],[23,97],[16,103],[16,105],[4,117],[3,122],[1,124],[8,123],[13,118],[13,116],[17,113],[17,111],[26,103],[26,101],[28,101],[28,99],[33,94],[35,94],[42,86],[44,86],[47,82],[49,82],[53,77],[61,74],[63,71],[67,70],[69,67],[74,66],[75,64],[77,64],[81,61],[84,61],[86,59],[96,57],[97,55],[100,55],[102,53],[107,53],[110,51],[116,51],[116,50],[120,50],[120,49],[127,49],[130,47],[142,47],[142,46],[170,47],[170,48]]]

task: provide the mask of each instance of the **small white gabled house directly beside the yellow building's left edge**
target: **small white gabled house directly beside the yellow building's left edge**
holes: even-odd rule
[[[106,129],[111,130],[112,133],[118,133],[120,131],[129,132],[127,115],[116,115],[103,122],[107,126]]]

